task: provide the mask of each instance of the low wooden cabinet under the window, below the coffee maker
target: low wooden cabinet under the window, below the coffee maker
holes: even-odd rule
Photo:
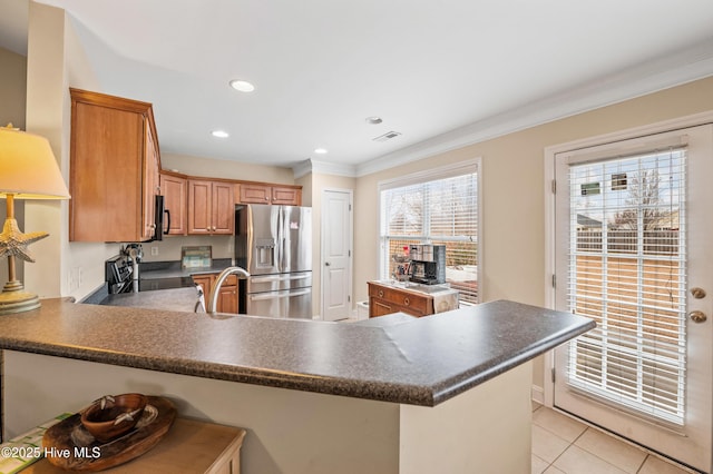
[[[406,313],[412,316],[433,314],[433,298],[427,294],[409,292],[369,282],[369,317]]]

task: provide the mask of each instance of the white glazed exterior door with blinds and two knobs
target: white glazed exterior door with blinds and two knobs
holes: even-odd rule
[[[712,126],[557,154],[555,174],[556,307],[597,322],[557,349],[555,406],[710,473]]]

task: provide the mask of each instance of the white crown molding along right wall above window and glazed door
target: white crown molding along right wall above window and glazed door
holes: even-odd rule
[[[356,166],[356,177],[713,76],[713,38]]]

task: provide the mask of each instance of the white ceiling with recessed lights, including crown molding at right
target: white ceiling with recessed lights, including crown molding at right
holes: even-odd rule
[[[711,0],[41,2],[102,92],[154,105],[163,152],[355,176],[713,75]],[[27,0],[0,11],[26,51]]]

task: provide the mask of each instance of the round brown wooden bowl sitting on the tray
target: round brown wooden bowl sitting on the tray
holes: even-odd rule
[[[81,424],[98,442],[107,443],[136,426],[146,403],[141,394],[105,395],[81,413]]]

